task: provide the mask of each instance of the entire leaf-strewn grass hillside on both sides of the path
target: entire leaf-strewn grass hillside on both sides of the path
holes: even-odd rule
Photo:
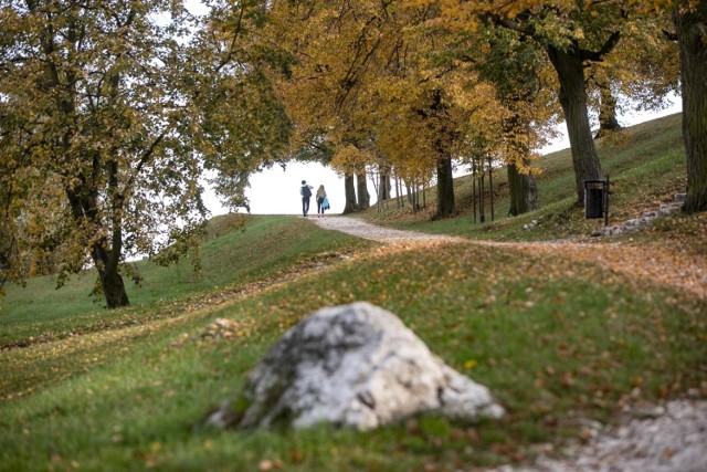
[[[680,188],[675,117],[600,146],[618,214]],[[473,225],[389,210],[386,224],[469,238],[556,239],[591,224],[571,202],[569,160],[544,160],[542,209]],[[564,183],[563,183],[564,182]],[[639,188],[639,183],[641,188]],[[464,188],[458,188],[464,210]],[[503,187],[499,187],[499,208]],[[504,214],[502,210],[498,214]],[[558,214],[561,217],[550,217]],[[534,231],[524,221],[545,216]],[[705,254],[705,216],[675,217],[635,244]],[[690,292],[578,262],[473,243],[391,249],[295,217],[223,217],[187,262],[138,262],[133,306],[87,297],[94,274],[55,291],[51,277],[10,286],[0,312],[0,471],[455,470],[524,463],[547,443],[581,439],[585,419],[624,407],[707,397],[707,301]],[[366,300],[398,314],[453,368],[507,408],[500,421],[423,417],[367,433],[194,428],[297,321]],[[215,319],[224,319],[215,325]]]

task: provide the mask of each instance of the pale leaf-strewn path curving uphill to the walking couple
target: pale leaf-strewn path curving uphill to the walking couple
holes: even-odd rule
[[[312,220],[327,230],[341,231],[379,242],[467,242],[540,255],[559,255],[578,262],[599,263],[610,271],[623,273],[633,280],[669,285],[684,291],[688,296],[707,300],[707,258],[705,256],[658,248],[647,249],[627,243],[472,241],[450,235],[382,228],[349,217],[325,217]]]

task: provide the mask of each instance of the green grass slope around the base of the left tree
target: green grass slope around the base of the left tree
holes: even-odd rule
[[[102,329],[106,324],[129,325],[152,316],[172,316],[190,297],[234,291],[297,265],[319,259],[326,262],[371,245],[291,217],[249,217],[245,231],[230,220],[218,217],[211,222],[211,238],[200,248],[198,273],[189,256],[168,268],[147,260],[135,263],[143,282],[127,286],[129,308],[106,311],[103,300],[96,302],[88,296],[95,271],[75,276],[59,291],[51,276],[30,279],[23,290],[6,287],[8,294],[0,300],[0,347],[27,343],[30,337],[53,339]],[[217,238],[219,233],[222,235]]]

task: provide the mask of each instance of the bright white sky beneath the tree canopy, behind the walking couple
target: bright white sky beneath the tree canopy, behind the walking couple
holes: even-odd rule
[[[679,98],[674,98],[672,104],[659,112],[633,112],[619,116],[619,123],[622,126],[632,126],[639,123],[647,122],[659,116],[672,115],[682,109]],[[567,128],[562,123],[560,129],[562,136],[541,149],[542,154],[552,153],[569,147],[567,138]],[[466,174],[464,169],[461,174]],[[302,164],[291,162],[286,170],[275,166],[272,169],[265,169],[262,172],[251,177],[251,187],[245,195],[251,202],[251,212],[253,214],[299,214],[302,212],[302,197],[299,197],[300,181],[306,180],[316,189],[319,185],[324,185],[329,202],[331,204],[330,213],[341,213],[344,211],[345,193],[344,177],[338,176],[334,170],[319,164]],[[368,181],[368,191],[371,195],[371,203],[376,201],[376,190],[372,182]],[[205,193],[205,203],[212,216],[223,214],[226,212],[215,195],[208,190]],[[310,214],[316,213],[316,202],[312,199],[309,210]]]

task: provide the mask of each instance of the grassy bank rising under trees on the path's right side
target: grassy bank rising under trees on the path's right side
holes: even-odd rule
[[[674,193],[685,191],[685,154],[680,132],[682,115],[671,115],[626,128],[597,140],[597,150],[604,174],[611,178],[610,223],[635,218],[642,211],[655,210]],[[468,176],[455,179],[457,218],[430,221],[436,203],[435,189],[426,193],[428,208],[413,213],[410,207],[397,208],[394,201],[384,211],[371,208],[365,218],[379,224],[418,229],[434,233],[450,233],[476,239],[548,240],[589,234],[603,225],[603,220],[584,220],[583,209],[574,204],[574,174],[570,150],[542,157],[537,164],[537,211],[507,218],[508,180],[505,168],[495,170],[495,214],[486,209],[487,222],[472,222],[472,185]],[[531,220],[541,218],[532,231],[523,229]]]

